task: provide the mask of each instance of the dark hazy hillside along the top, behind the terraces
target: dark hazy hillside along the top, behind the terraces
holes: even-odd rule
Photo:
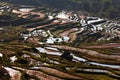
[[[120,17],[120,0],[0,0],[15,4],[47,6],[57,9],[87,11],[108,18]],[[54,5],[53,5],[54,4]]]

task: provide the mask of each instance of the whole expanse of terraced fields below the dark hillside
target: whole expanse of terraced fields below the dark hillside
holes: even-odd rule
[[[120,79],[119,22],[82,26],[34,11],[29,13],[36,14],[37,20],[29,14],[19,17],[23,13],[16,14],[17,20],[22,19],[19,24],[9,20],[0,25],[1,80]],[[55,42],[48,44],[49,38]]]

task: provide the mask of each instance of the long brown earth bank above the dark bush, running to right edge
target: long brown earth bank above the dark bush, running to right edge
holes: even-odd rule
[[[75,47],[69,46],[60,46],[60,45],[47,45],[50,47],[55,47],[62,50],[69,50],[79,53],[80,56],[83,58],[88,59],[89,61],[99,62],[99,63],[106,63],[106,64],[120,64],[120,55],[107,55],[102,54],[97,51],[88,50],[88,49],[80,49]]]

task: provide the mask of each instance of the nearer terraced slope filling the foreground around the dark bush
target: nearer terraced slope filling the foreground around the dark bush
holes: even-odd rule
[[[36,49],[39,50],[40,51],[39,52],[35,48],[23,44],[19,45],[6,44],[6,45],[0,44],[1,47],[0,53],[3,54],[3,57],[1,58],[1,65],[2,69],[8,71],[8,74],[14,73],[10,75],[11,79],[13,80],[15,78],[36,80],[37,79],[117,80],[120,78],[119,64],[107,65],[99,63],[100,59],[95,60],[95,58],[91,57],[91,59],[85,60],[82,58],[82,57],[87,58],[90,55],[92,56],[95,55],[96,53],[94,51],[90,52],[89,50],[88,51],[80,50],[79,48],[75,49],[73,47],[68,46],[46,45],[41,48],[37,47]],[[17,47],[18,49],[11,50],[11,48],[14,49],[15,47]],[[5,49],[7,49],[7,52],[4,51]],[[72,53],[73,55],[72,61],[68,61],[60,57],[63,54],[63,51],[66,50],[69,50]],[[88,52],[88,56],[86,56],[85,54],[86,51]],[[101,54],[99,53],[98,55]],[[13,59],[14,62],[12,62],[11,57],[14,56],[15,60]],[[105,55],[103,56],[105,57]],[[118,55],[116,56],[119,57]],[[102,61],[111,63],[110,59],[104,60],[104,57],[102,57]],[[111,57],[109,55],[109,58],[111,58],[112,60],[112,55]],[[92,59],[93,61],[94,60],[98,61],[98,63],[91,62]]]

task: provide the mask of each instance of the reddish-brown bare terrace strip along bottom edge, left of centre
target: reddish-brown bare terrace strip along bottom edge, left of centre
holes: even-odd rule
[[[63,80],[61,78],[72,79],[72,80],[83,80],[80,77],[73,76],[73,75],[58,71],[53,68],[48,68],[48,67],[39,67],[38,70],[28,70],[28,69],[23,69],[23,68],[19,68],[19,67],[14,67],[14,68],[18,69],[18,70],[22,70],[31,76],[32,75],[36,76],[40,80]],[[43,73],[41,71],[43,71],[45,73]],[[51,75],[53,75],[53,76],[51,76]],[[58,77],[60,77],[60,78],[58,78]]]

